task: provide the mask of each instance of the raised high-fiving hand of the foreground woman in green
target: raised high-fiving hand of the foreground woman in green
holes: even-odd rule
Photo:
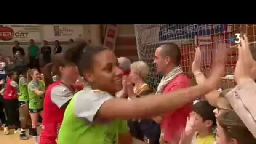
[[[221,81],[221,77],[224,74],[225,58],[226,58],[226,48],[218,48],[216,50],[215,56],[213,57],[211,75],[203,83],[203,85],[207,86],[209,91],[212,91],[218,88],[219,82]]]

